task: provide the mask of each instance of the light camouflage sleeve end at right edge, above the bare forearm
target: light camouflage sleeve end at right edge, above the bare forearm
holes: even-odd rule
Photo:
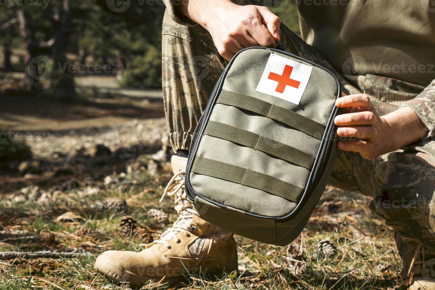
[[[400,107],[410,107],[429,129],[426,138],[435,136],[435,80],[430,83],[417,97],[408,100]]]

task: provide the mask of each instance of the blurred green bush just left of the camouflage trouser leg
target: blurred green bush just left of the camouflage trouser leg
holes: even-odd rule
[[[161,87],[161,50],[149,47],[143,56],[136,57],[120,80],[122,87]]]

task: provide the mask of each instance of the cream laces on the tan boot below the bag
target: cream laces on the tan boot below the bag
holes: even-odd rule
[[[191,230],[195,229],[195,227],[192,226],[191,223],[193,222],[193,215],[198,215],[198,213],[193,208],[193,204],[191,203],[191,201],[187,199],[184,185],[185,173],[185,170],[180,170],[175,173],[174,177],[172,177],[167,184],[160,199],[160,202],[162,202],[165,196],[173,195],[175,198],[175,210],[177,210],[178,214],[178,219],[172,225],[172,227],[164,231],[164,233],[161,234],[159,240],[154,240],[153,242],[164,244],[168,249],[171,249],[168,241],[172,240],[173,238],[177,239],[177,243],[181,242],[181,240],[177,237],[177,233],[184,233],[187,237],[190,237]]]

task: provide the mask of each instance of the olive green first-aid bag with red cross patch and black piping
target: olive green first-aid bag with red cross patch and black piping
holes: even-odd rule
[[[296,239],[337,155],[340,96],[337,78],[308,60],[264,47],[237,53],[189,151],[185,187],[201,218],[264,243]]]

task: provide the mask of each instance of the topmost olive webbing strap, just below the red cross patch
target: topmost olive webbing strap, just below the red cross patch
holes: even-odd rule
[[[318,140],[322,139],[326,130],[322,124],[298,113],[241,93],[222,90],[216,103],[257,113],[304,132]]]

